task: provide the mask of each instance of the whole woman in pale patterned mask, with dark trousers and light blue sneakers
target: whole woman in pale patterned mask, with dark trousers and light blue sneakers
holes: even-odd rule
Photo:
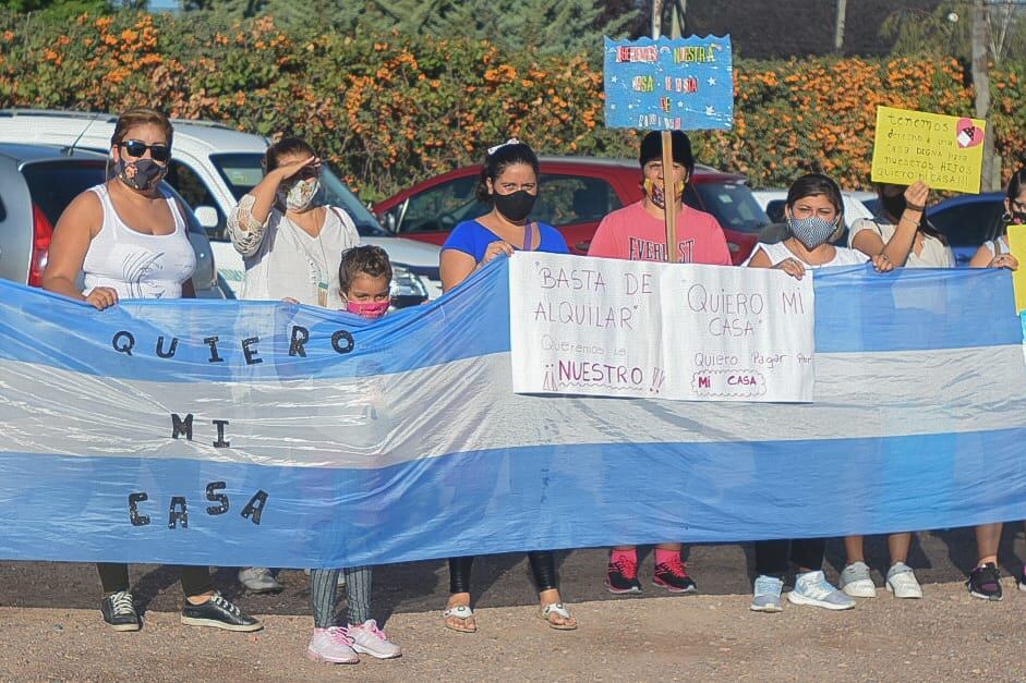
[[[844,227],[844,204],[841,188],[830,178],[809,173],[796,180],[787,191],[784,216],[790,236],[777,244],[757,244],[748,259],[749,268],[776,268],[800,280],[807,268],[853,266],[870,260],[861,252],[831,244],[831,239],[836,239]],[[894,268],[882,254],[871,260],[880,272]],[[792,564],[797,573],[788,600],[830,610],[855,607],[855,600],[823,575],[825,539],[761,540],[755,546],[752,611],[781,611],[781,591]]]

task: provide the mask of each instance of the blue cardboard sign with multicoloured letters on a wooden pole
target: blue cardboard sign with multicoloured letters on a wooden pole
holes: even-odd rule
[[[731,36],[605,38],[605,124],[729,130],[734,125]]]

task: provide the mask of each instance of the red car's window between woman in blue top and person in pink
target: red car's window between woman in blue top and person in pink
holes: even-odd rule
[[[531,217],[551,225],[599,222],[623,206],[601,178],[544,173]]]

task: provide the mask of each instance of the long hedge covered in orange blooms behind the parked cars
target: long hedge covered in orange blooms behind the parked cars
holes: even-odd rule
[[[343,36],[271,17],[213,26],[189,14],[119,12],[68,25],[0,14],[0,106],[117,112],[153,105],[322,150],[365,199],[479,162],[510,136],[545,154],[637,154],[638,131],[604,126],[595,54],[503,52],[459,37]],[[1026,75],[992,73],[1007,176],[1026,150]],[[735,64],[732,131],[695,132],[700,161],[786,186],[820,170],[869,184],[878,105],[971,114],[962,64],[816,58]]]

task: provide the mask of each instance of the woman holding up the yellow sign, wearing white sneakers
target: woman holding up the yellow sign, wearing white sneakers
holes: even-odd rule
[[[909,186],[880,183],[877,196],[883,208],[884,221],[861,218],[852,224],[848,244],[867,256],[884,255],[895,266],[905,268],[954,268],[955,257],[944,237],[925,219],[930,188],[922,181]],[[912,533],[888,536],[891,566],[886,573],[886,588],[897,598],[921,598],[922,588],[908,566]],[[847,564],[841,572],[841,588],[853,598],[877,597],[866,563],[862,536],[844,539]]]

